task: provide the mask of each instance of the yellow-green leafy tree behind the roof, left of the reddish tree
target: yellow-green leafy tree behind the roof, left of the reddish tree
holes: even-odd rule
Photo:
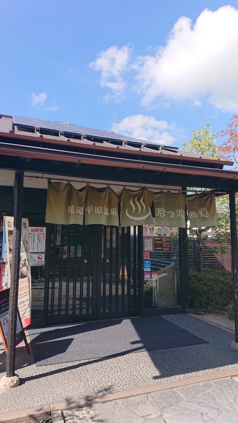
[[[207,123],[206,126],[201,126],[196,132],[191,132],[193,138],[189,141],[188,144],[182,143],[183,151],[189,151],[190,153],[196,153],[200,156],[209,156],[209,157],[221,157],[221,153],[218,150],[216,145],[217,139],[214,138],[212,128],[209,127]],[[194,190],[194,188],[188,187],[189,190]],[[202,191],[202,188],[199,188],[199,191]],[[207,235],[202,235],[203,232],[208,231],[209,227],[205,228],[189,228],[189,246],[195,246],[197,249],[197,270],[202,272],[202,250],[209,250],[211,254],[218,253],[216,247],[205,247],[202,245],[202,241],[208,239]],[[196,242],[194,242],[194,237]],[[222,241],[221,241],[222,242]],[[220,251],[225,253],[225,250],[221,246]]]

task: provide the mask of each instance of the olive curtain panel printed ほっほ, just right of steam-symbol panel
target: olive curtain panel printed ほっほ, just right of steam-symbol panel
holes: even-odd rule
[[[156,226],[186,228],[185,195],[174,192],[161,192],[153,195]]]

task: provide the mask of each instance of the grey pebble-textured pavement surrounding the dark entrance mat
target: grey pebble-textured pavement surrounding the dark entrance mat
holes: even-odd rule
[[[220,371],[230,370],[230,374],[238,374],[238,352],[230,349],[230,342],[234,340],[232,333],[188,315],[164,317],[209,343],[41,367],[36,367],[33,354],[27,356],[22,344],[16,349],[16,373],[21,384],[0,391],[1,412],[67,403],[77,398],[125,390],[133,390],[136,395],[142,387],[191,377],[205,378]],[[2,377],[6,355],[3,347],[0,348]]]

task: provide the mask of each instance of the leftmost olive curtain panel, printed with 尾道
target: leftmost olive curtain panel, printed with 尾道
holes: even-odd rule
[[[58,225],[83,225],[86,189],[77,191],[67,182],[51,182],[48,179],[46,222]]]

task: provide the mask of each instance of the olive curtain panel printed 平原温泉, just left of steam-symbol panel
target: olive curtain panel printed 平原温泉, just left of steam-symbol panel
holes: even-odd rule
[[[118,201],[120,193],[107,188],[87,187],[85,225],[119,226]]]

